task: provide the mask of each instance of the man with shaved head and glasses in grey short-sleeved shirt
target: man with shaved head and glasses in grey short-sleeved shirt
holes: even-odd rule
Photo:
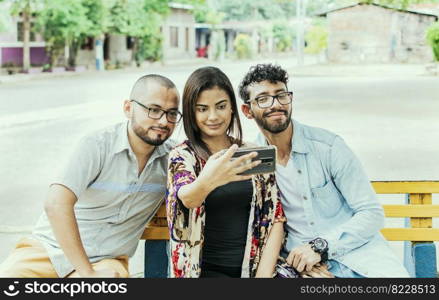
[[[79,142],[0,277],[128,277],[128,258],[165,196],[178,106],[168,78],[138,79],[123,105],[128,121]]]

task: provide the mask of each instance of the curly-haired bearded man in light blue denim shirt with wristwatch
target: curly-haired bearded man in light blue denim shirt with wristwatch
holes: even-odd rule
[[[239,92],[257,143],[277,147],[288,263],[299,272],[327,263],[336,277],[408,277],[380,233],[383,209],[361,163],[341,137],[292,120],[287,82],[279,66],[259,64]]]

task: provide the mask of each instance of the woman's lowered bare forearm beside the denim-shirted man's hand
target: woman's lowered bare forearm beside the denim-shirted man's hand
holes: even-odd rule
[[[284,239],[284,222],[276,222],[270,230],[267,243],[262,252],[256,278],[273,277],[274,267],[279,257],[279,252]]]

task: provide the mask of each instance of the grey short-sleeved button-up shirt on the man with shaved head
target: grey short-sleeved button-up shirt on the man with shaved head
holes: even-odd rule
[[[147,222],[166,191],[171,140],[155,148],[140,176],[128,142],[128,123],[84,137],[52,184],[69,188],[78,198],[74,210],[90,262],[132,256]],[[34,229],[60,277],[74,270],[43,213]]]

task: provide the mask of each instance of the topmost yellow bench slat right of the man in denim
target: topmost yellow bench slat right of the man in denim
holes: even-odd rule
[[[439,193],[439,181],[372,181],[377,194]]]

